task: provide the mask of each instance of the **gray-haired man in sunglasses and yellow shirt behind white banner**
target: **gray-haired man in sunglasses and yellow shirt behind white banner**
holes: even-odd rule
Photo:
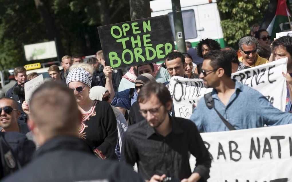
[[[268,60],[260,57],[256,53],[256,48],[258,47],[258,40],[251,36],[243,37],[238,42],[239,51],[241,57],[239,61],[244,63],[246,68],[255,67],[268,63]]]

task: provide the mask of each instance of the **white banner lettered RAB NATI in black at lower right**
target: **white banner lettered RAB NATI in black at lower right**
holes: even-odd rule
[[[208,181],[291,181],[291,130],[292,124],[201,133],[212,159]],[[195,163],[191,156],[191,169]]]

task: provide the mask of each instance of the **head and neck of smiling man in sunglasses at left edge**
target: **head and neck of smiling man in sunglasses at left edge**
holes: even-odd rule
[[[20,132],[27,134],[29,129],[26,123],[17,122],[20,116],[20,110],[18,109],[18,104],[15,100],[11,98],[1,98],[0,99],[0,126],[1,132]]]

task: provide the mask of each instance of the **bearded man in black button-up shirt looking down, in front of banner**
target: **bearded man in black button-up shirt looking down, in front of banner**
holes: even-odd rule
[[[211,159],[197,127],[187,119],[169,116],[172,99],[164,84],[149,82],[138,96],[140,112],[146,119],[128,128],[121,160],[137,162],[145,180],[166,177],[182,181],[206,181]],[[191,172],[188,151],[197,158]]]

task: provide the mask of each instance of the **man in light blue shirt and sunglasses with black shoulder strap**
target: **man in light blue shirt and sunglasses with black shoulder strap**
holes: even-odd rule
[[[218,132],[292,123],[292,114],[273,107],[260,92],[231,79],[231,63],[226,57],[226,52],[220,50],[210,51],[204,56],[200,78],[204,86],[213,88],[213,91],[211,96],[208,94],[209,98],[206,94],[199,100],[190,118],[199,131]],[[228,127],[228,123],[232,127]]]

